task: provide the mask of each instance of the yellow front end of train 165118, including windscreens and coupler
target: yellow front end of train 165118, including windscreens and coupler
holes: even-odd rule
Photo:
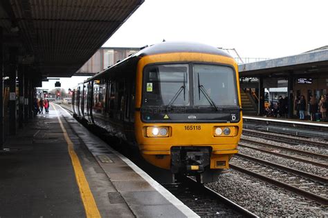
[[[242,134],[237,63],[211,46],[158,47],[138,61],[136,72],[140,152],[174,174],[215,181]]]

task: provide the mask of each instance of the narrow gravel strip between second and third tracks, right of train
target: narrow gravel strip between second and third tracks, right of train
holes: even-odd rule
[[[313,166],[311,164],[306,164],[306,163],[303,163],[300,161],[294,161],[292,159],[286,159],[284,157],[277,157],[274,155],[269,155],[264,152],[260,152],[260,151],[253,150],[250,148],[239,147],[238,150],[239,150],[239,153],[241,153],[243,155],[257,157],[259,159],[264,159],[266,161],[270,161],[275,164],[280,164],[283,166],[288,166],[290,168],[294,168],[296,170],[302,170],[304,172],[309,172],[311,174],[318,175],[320,177],[327,177],[327,175],[328,175],[328,170],[326,168],[322,168],[319,166]],[[231,163],[233,163],[233,159],[232,159]]]

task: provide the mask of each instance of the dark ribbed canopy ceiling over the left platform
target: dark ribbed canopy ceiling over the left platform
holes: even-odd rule
[[[5,59],[8,48],[19,47],[20,61],[32,64],[42,77],[71,77],[142,3],[1,0]]]

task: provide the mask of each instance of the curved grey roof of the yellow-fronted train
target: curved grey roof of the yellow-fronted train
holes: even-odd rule
[[[165,54],[165,53],[177,53],[177,52],[194,52],[194,53],[205,53],[205,54],[215,54],[225,57],[233,58],[230,54],[221,50],[215,46],[209,46],[203,43],[194,43],[194,42],[186,42],[186,41],[163,41],[161,43],[156,43],[152,46],[148,46],[132,54],[131,56],[123,59],[122,61],[110,66],[109,68],[102,70],[98,74],[94,75],[93,77],[86,79],[84,82],[88,82],[93,79],[97,79],[101,77],[104,72],[107,70],[119,70],[121,67],[132,67],[136,66],[139,59],[154,54]]]

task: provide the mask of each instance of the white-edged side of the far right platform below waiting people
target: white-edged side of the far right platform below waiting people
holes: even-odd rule
[[[244,128],[265,130],[303,137],[321,137],[328,139],[328,123],[317,121],[304,121],[275,117],[259,117],[243,115]]]

